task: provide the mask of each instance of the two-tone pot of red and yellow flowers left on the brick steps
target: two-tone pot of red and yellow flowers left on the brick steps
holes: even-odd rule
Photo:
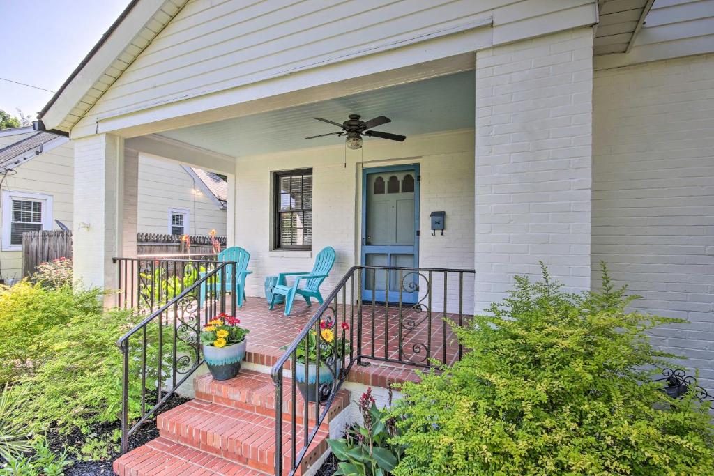
[[[203,358],[216,380],[228,380],[238,375],[241,360],[246,355],[246,334],[241,320],[221,313],[209,320],[201,331]]]

